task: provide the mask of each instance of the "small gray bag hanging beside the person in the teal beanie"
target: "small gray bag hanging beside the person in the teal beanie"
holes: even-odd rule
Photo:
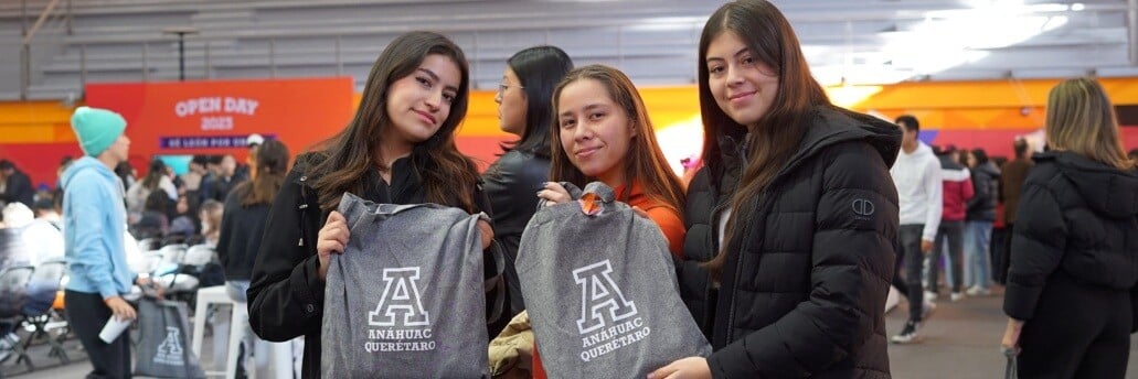
[[[205,378],[198,357],[190,351],[185,303],[142,297],[134,374],[157,378]],[[198,314],[198,317],[206,317]]]

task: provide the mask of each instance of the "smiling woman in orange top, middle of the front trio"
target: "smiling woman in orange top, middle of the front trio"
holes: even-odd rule
[[[553,91],[550,182],[537,196],[546,204],[571,197],[560,182],[584,188],[589,182],[612,187],[617,201],[640,210],[660,227],[668,250],[683,251],[684,186],[655,141],[648,109],[620,70],[591,65],[569,71]],[[534,349],[534,378],[545,378]]]

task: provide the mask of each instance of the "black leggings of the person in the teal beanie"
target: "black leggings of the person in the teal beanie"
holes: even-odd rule
[[[64,292],[64,306],[67,323],[83,344],[93,367],[86,378],[130,378],[131,330],[124,330],[110,344],[99,339],[99,331],[112,314],[102,296],[68,289]]]

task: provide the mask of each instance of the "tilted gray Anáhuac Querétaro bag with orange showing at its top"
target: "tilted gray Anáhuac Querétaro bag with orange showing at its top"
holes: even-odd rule
[[[564,185],[564,184],[563,184]],[[594,182],[534,214],[518,277],[550,378],[643,378],[711,346],[679,298],[668,242]]]

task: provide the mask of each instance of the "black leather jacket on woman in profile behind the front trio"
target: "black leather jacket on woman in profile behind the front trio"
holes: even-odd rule
[[[526,309],[513,262],[518,258],[521,231],[537,211],[537,192],[549,180],[549,158],[511,150],[502,154],[483,175],[483,188],[494,208],[494,239],[501,243],[506,258],[504,273],[510,294],[506,308],[509,315]],[[504,321],[510,319],[511,317],[503,318]]]

